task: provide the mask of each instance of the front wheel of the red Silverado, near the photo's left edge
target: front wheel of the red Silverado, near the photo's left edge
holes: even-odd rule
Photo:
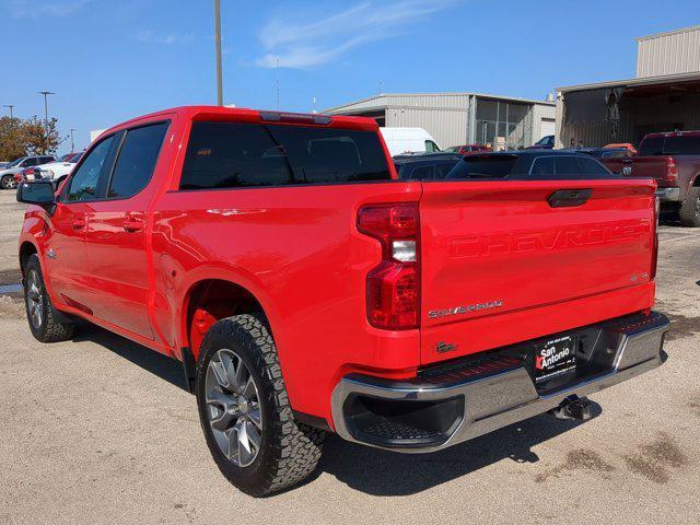
[[[63,322],[66,316],[54,308],[46,292],[42,265],[36,254],[30,256],[24,267],[24,306],[30,329],[37,340],[57,342],[73,337],[75,326]]]

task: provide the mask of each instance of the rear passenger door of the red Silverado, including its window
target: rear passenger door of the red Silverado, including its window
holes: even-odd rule
[[[149,339],[153,339],[145,246],[147,210],[153,196],[149,182],[167,125],[161,121],[119,135],[104,198],[94,202],[86,218],[93,315]]]

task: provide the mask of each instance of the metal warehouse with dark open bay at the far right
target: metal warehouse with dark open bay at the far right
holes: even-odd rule
[[[700,129],[700,26],[637,39],[634,79],[557,89],[557,145]]]

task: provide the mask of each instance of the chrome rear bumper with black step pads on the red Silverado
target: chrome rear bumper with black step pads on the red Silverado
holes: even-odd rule
[[[585,396],[660,366],[669,322],[634,314],[572,330],[588,337],[586,371],[552,388],[537,387],[528,364],[534,341],[434,366],[412,380],[360,374],[336,386],[336,432],[348,441],[396,452],[432,452],[530,417],[557,411],[585,419]],[[550,336],[551,337],[551,336]],[[567,408],[569,404],[576,404]]]

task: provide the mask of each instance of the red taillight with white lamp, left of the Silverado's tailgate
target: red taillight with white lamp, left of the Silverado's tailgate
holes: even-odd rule
[[[417,202],[365,206],[358,231],[382,245],[382,261],[366,278],[368,320],[390,330],[420,320],[420,218]]]

